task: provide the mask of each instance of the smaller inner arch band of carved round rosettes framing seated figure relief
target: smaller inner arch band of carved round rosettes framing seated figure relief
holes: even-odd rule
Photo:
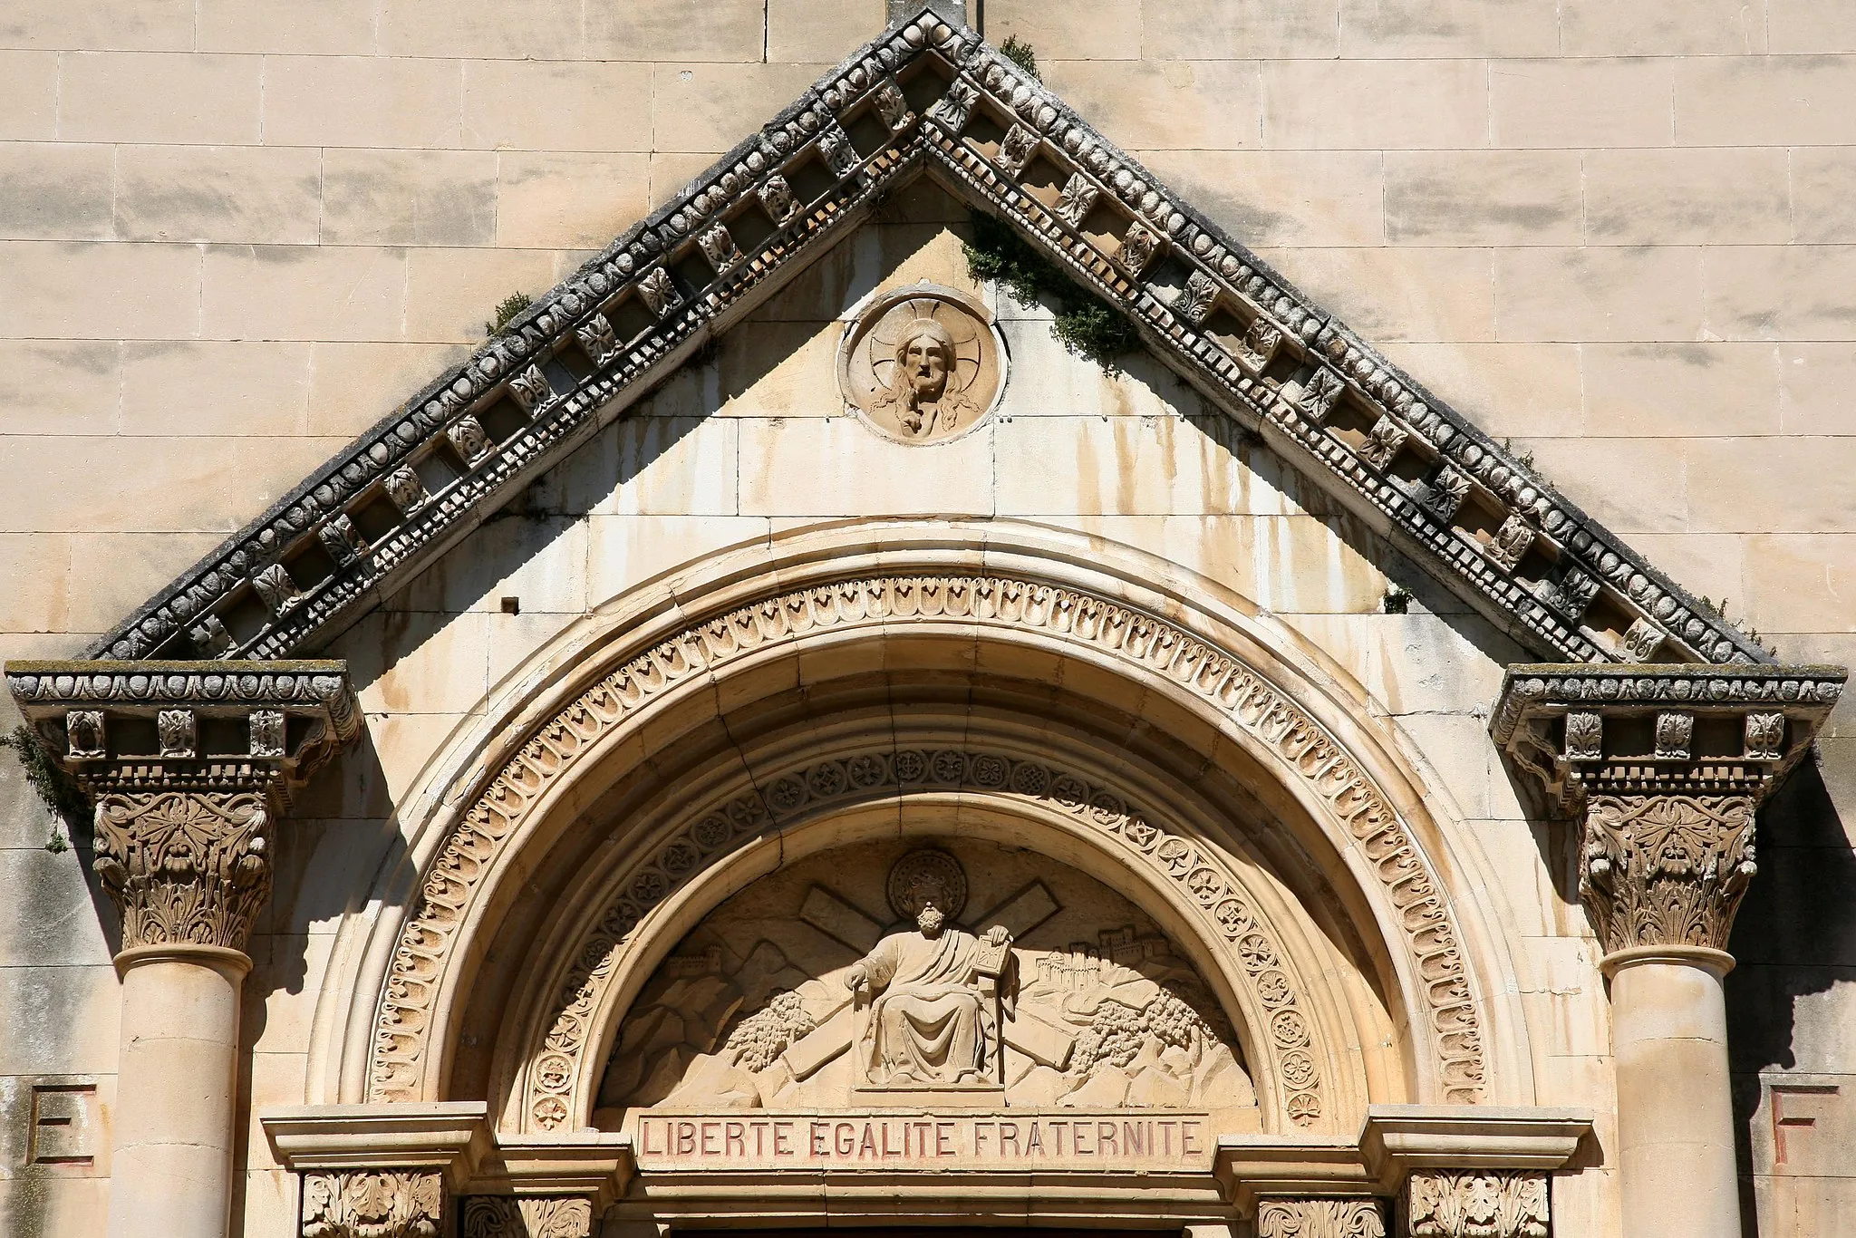
[[[618,882],[618,893],[574,943],[572,963],[559,984],[548,1017],[527,1047],[520,1121],[525,1128],[557,1130],[590,1108],[603,1062],[596,1036],[601,1012],[627,952],[644,935],[640,922],[672,893],[718,865],[741,843],[768,830],[857,800],[921,793],[963,793],[1036,804],[1082,822],[1125,856],[1171,882],[1195,908],[1205,937],[1223,943],[1245,984],[1255,1012],[1257,1041],[1266,1077],[1275,1082],[1277,1108],[1295,1127],[1312,1127],[1327,1104],[1321,1062],[1331,1047],[1316,1043],[1308,982],[1255,900],[1214,850],[1169,832],[1101,781],[1080,778],[1047,761],[1026,761],[971,748],[863,750],[791,768],[765,791],[728,798],[696,813],[694,824],[638,856]]]

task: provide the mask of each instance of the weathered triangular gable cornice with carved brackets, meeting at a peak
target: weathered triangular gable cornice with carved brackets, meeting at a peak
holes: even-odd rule
[[[327,646],[928,173],[1537,655],[1765,650],[1167,191],[976,33],[893,22],[89,651]],[[1028,180],[1026,173],[1034,173]]]

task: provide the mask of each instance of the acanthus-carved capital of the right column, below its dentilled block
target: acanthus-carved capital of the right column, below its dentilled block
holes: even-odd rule
[[[1750,794],[1594,794],[1579,898],[1605,950],[1724,950],[1754,867]]]

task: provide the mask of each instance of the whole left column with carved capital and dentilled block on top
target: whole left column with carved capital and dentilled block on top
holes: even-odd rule
[[[110,1236],[225,1238],[239,1000],[291,793],[360,729],[343,663],[9,663],[122,913]]]

